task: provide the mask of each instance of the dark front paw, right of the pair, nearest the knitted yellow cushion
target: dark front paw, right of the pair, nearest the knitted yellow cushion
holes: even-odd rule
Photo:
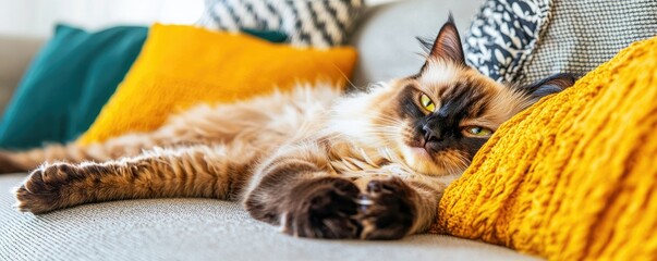
[[[399,239],[411,231],[415,219],[415,190],[402,179],[375,179],[361,196],[363,239]]]

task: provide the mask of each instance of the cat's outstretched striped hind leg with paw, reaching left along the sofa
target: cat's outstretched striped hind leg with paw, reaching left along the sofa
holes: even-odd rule
[[[52,163],[15,190],[20,211],[45,213],[88,202],[205,197],[235,199],[258,151],[247,146],[155,149],[105,163]]]

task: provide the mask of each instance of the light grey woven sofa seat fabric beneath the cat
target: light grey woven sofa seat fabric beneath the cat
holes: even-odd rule
[[[254,221],[239,204],[151,199],[86,204],[35,216],[15,212],[0,175],[0,260],[537,260],[439,235],[400,241],[312,240]]]

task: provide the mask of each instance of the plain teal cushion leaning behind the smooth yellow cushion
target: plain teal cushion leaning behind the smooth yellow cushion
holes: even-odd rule
[[[29,65],[0,123],[0,147],[24,149],[77,138],[136,59],[145,27],[88,33],[58,25]]]

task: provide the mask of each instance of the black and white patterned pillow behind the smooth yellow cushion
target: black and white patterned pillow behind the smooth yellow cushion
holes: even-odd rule
[[[342,45],[364,0],[206,0],[197,25],[236,32],[279,30],[300,47]]]

